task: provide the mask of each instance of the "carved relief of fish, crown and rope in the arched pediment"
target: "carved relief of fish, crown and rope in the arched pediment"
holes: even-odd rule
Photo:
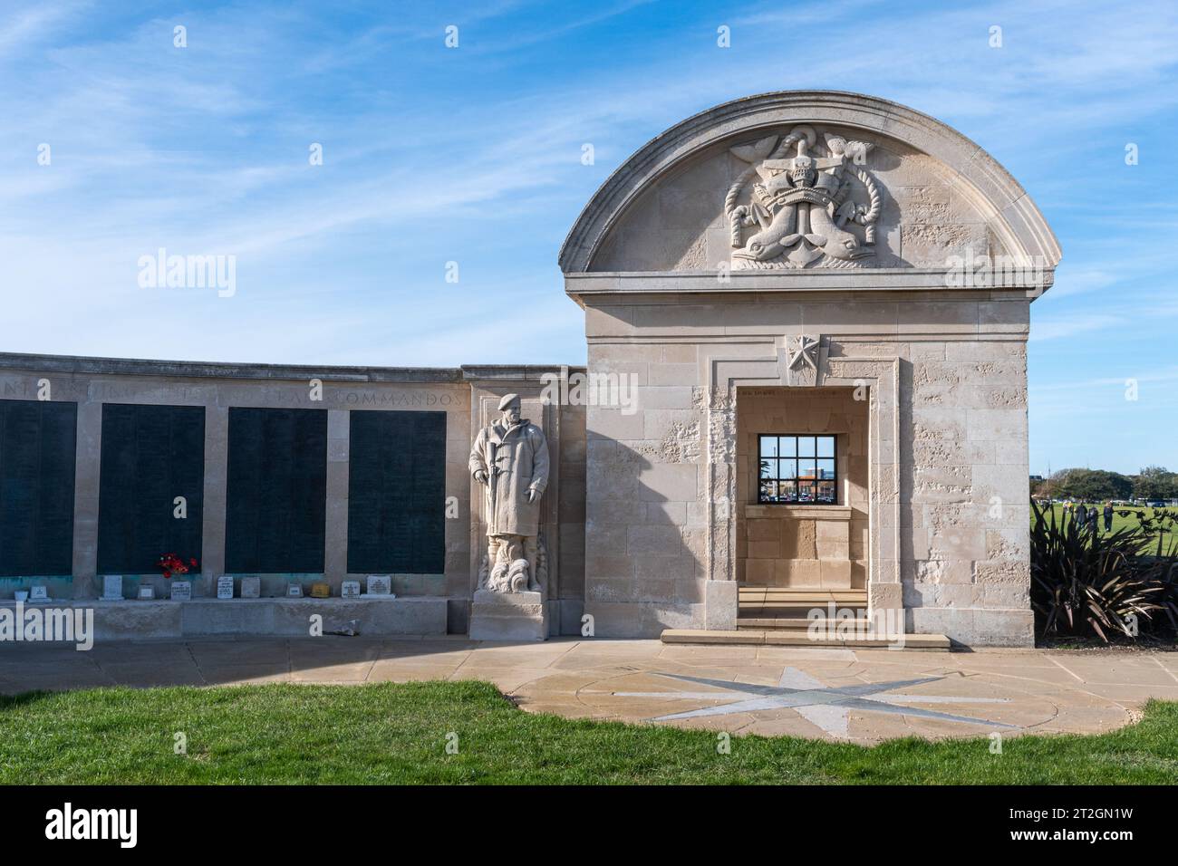
[[[749,163],[724,198],[734,270],[854,267],[874,253],[880,192],[863,167],[871,145],[823,140],[825,154],[813,128],[795,126],[730,148]]]

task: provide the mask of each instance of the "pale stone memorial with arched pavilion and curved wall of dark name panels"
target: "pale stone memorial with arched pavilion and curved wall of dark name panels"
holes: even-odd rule
[[[99,637],[319,614],[518,640],[736,639],[833,603],[1028,644],[1026,341],[1059,258],[1023,187],[925,114],[727,103],[569,232],[585,368],[0,355],[0,603],[47,587]],[[165,553],[197,561],[190,601]],[[125,601],[99,600],[112,575]],[[395,597],[339,597],[370,575]],[[224,576],[260,597],[217,599]]]

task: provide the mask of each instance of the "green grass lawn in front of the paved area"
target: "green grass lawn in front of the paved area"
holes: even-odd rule
[[[174,734],[187,754],[174,754]],[[457,754],[446,754],[446,734]],[[93,689],[0,698],[4,784],[1174,784],[1178,703],[1107,734],[795,738],[524,713],[483,682]]]

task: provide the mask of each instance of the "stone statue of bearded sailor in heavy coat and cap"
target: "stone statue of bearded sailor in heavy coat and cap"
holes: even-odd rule
[[[519,416],[519,395],[504,396],[499,411],[470,449],[470,472],[484,485],[487,515],[487,569],[478,588],[541,591],[540,500],[548,485],[548,442],[543,430]]]

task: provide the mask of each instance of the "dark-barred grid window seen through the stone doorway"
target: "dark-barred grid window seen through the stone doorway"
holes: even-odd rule
[[[757,438],[761,461],[757,502],[839,503],[834,436],[761,434]]]

